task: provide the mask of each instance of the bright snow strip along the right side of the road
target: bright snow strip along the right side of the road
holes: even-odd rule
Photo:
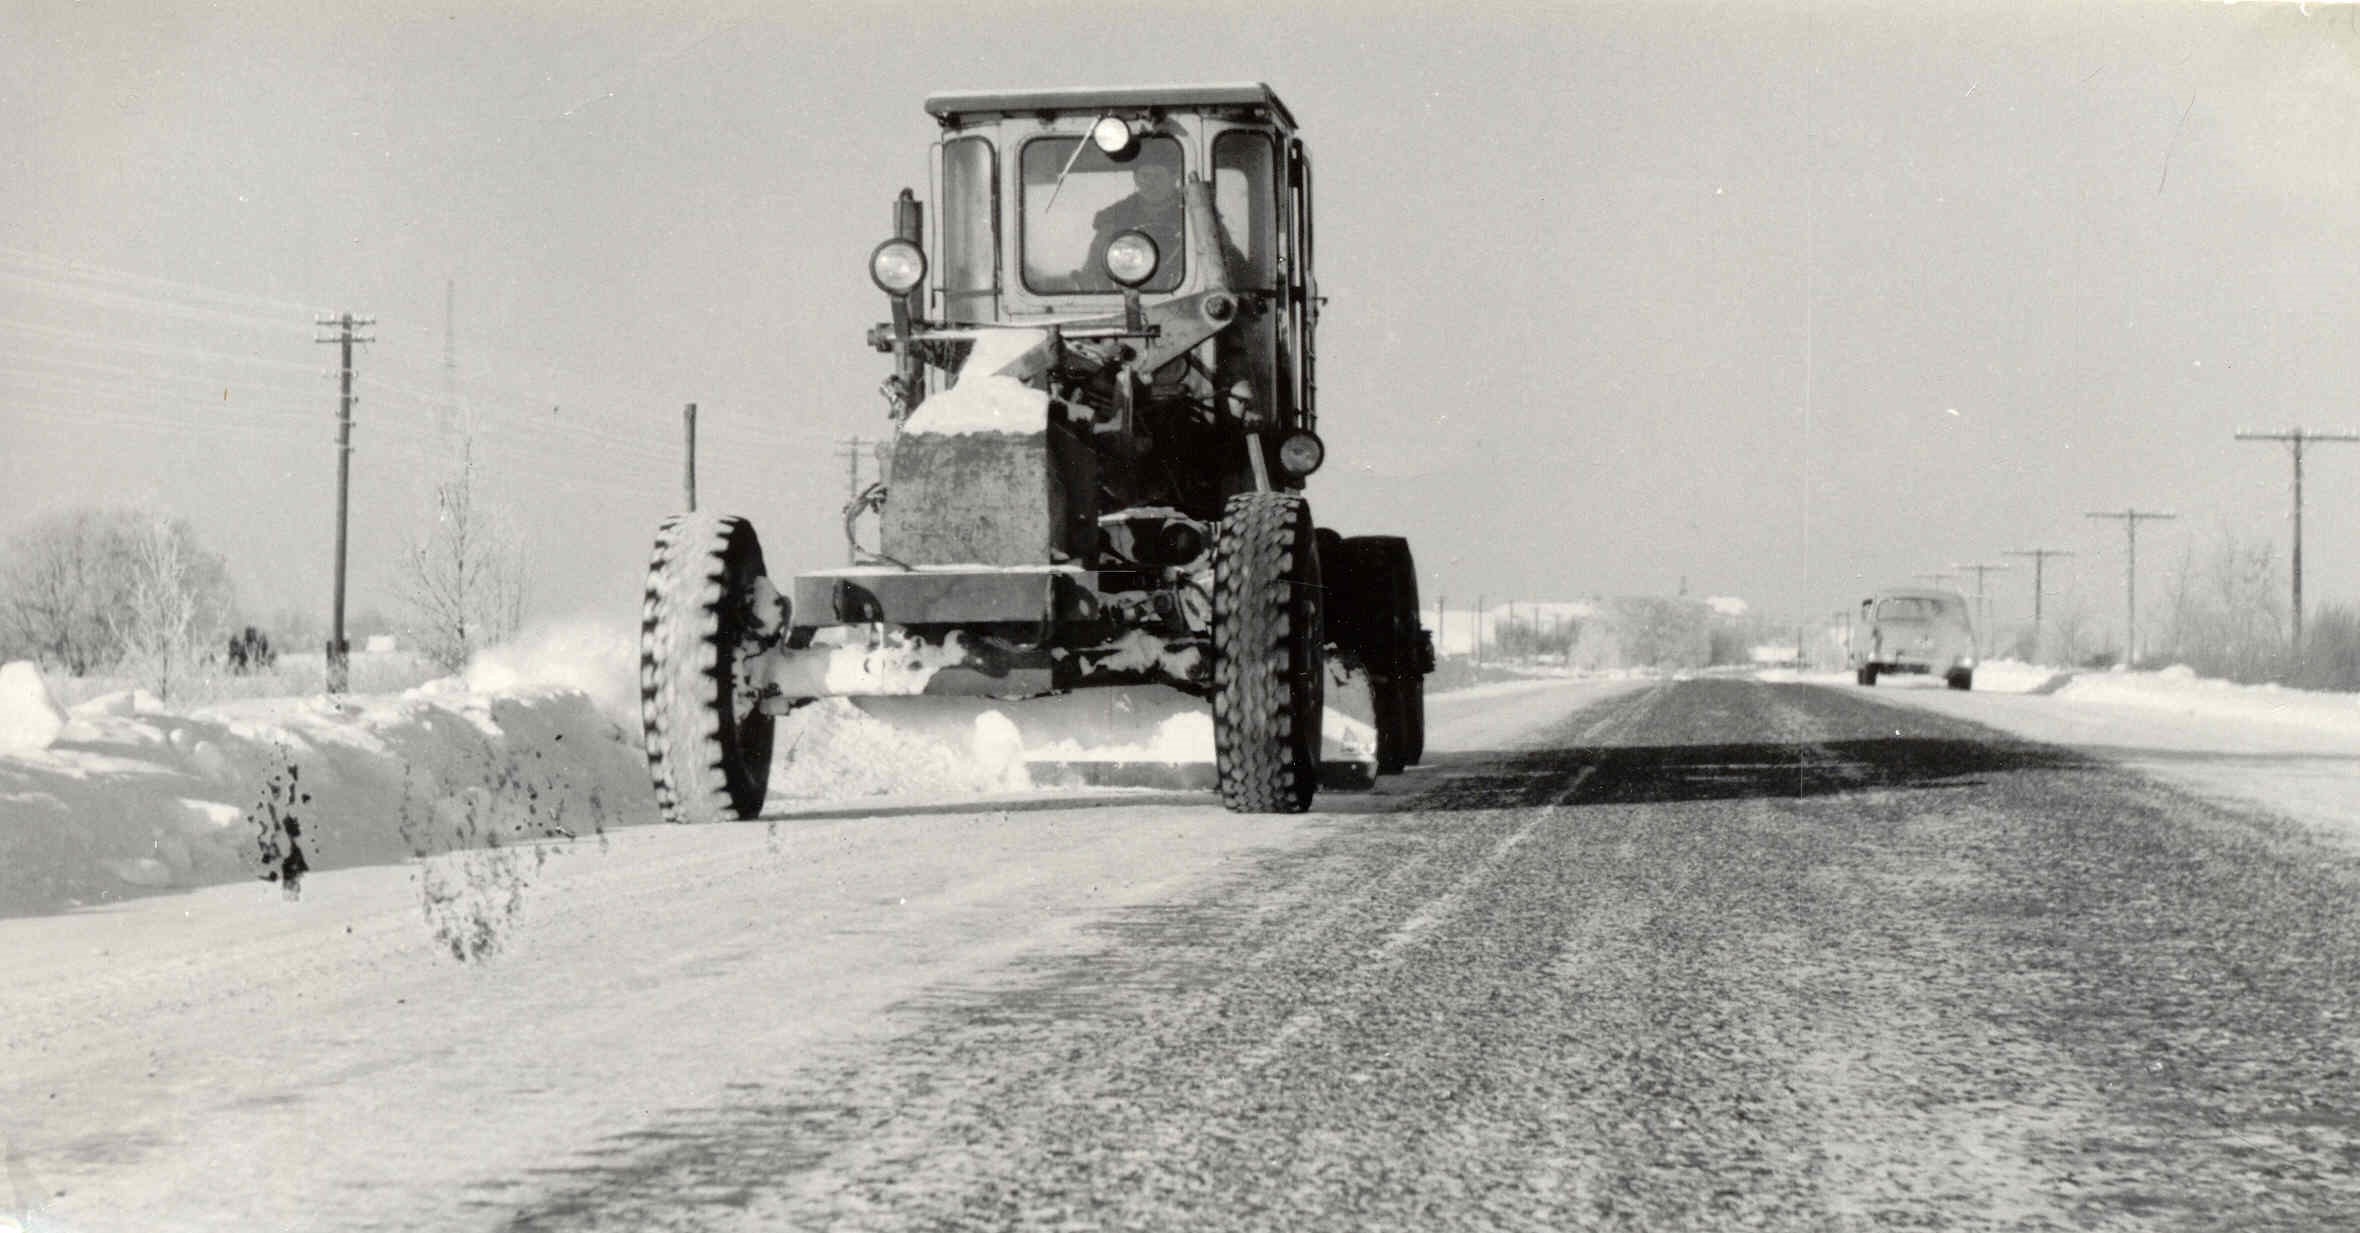
[[[1857,690],[1850,673],[1768,671],[1761,680]],[[2185,666],[2133,673],[1987,661],[1973,692],[1888,676],[1874,697],[2084,749],[2360,848],[2360,694],[2233,685]]]

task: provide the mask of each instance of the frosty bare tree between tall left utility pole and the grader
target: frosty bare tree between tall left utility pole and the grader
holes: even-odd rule
[[[517,633],[524,576],[524,548],[484,501],[467,442],[458,468],[434,487],[434,527],[401,553],[396,591],[418,652],[458,671],[477,650]]]

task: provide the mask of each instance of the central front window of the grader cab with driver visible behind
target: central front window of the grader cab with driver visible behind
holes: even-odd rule
[[[1187,267],[1180,172],[1180,142],[1171,137],[1142,137],[1123,161],[1081,137],[1027,142],[1024,286],[1038,293],[1121,291],[1107,276],[1107,246],[1123,231],[1145,231],[1161,260],[1140,291],[1178,288]]]

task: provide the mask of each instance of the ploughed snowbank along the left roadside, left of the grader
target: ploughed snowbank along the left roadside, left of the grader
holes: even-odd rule
[[[578,690],[101,697],[0,756],[0,916],[238,879],[597,834],[647,817],[630,735]]]

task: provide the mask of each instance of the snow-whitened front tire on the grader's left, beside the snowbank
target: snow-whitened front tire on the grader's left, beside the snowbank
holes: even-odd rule
[[[739,671],[760,650],[762,543],[743,517],[673,515],[656,531],[640,609],[640,720],[668,822],[762,813],[772,716]]]

